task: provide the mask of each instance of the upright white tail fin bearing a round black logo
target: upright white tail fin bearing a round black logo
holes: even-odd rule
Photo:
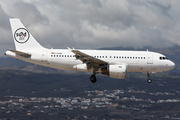
[[[43,48],[19,19],[9,19],[16,50]]]

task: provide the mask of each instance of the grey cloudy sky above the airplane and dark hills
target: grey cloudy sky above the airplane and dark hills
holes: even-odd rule
[[[0,56],[19,18],[48,48],[180,45],[180,0],[0,0]]]

